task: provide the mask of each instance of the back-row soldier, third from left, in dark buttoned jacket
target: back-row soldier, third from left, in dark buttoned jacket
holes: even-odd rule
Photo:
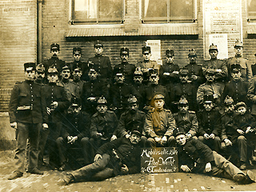
[[[98,71],[98,78],[102,83],[109,85],[110,80],[112,79],[113,70],[110,58],[102,55],[104,51],[102,42],[95,42],[94,51],[95,56],[93,58],[89,58],[87,63],[93,64],[93,68]]]

